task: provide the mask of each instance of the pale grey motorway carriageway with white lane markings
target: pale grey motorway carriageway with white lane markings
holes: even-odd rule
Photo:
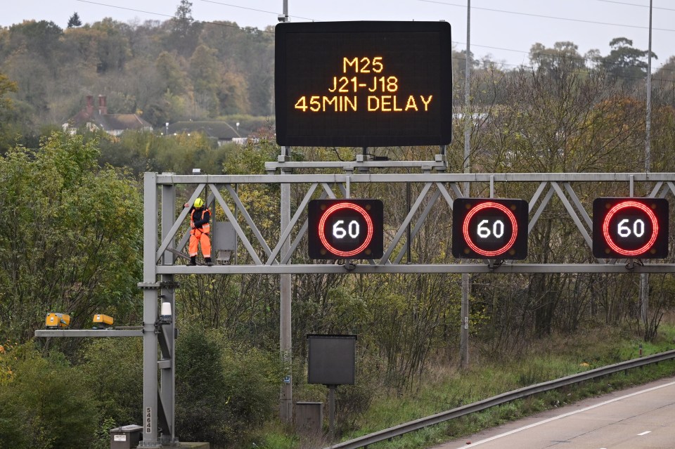
[[[474,446],[479,449],[675,449],[675,377],[548,410],[435,449]]]

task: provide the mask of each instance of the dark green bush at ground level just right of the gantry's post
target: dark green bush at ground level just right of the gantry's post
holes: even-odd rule
[[[278,355],[231,347],[218,330],[181,328],[176,344],[176,434],[231,447],[278,405]]]

